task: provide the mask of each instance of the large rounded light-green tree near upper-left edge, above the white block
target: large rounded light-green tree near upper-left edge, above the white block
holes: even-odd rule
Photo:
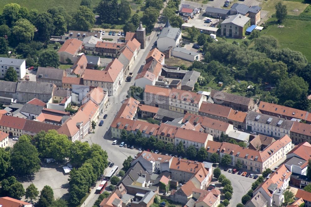
[[[16,43],[30,42],[35,35],[35,26],[30,23],[30,21],[26,19],[20,19],[15,22],[15,26],[12,29],[12,38],[14,36],[14,41]]]

